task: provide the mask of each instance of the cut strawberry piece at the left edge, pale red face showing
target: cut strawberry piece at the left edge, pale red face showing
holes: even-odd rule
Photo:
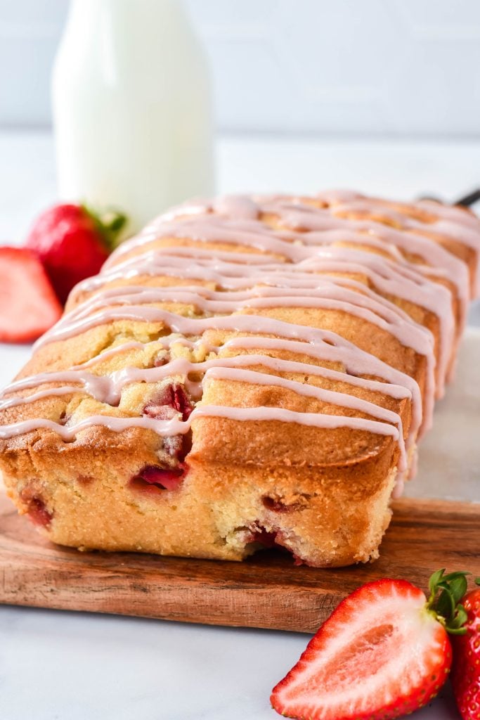
[[[0,341],[36,340],[61,314],[37,255],[27,248],[0,247]]]

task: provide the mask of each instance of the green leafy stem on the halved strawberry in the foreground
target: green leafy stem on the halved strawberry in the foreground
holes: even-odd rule
[[[453,635],[463,635],[463,627],[467,620],[467,613],[461,600],[467,590],[466,576],[471,575],[466,570],[449,572],[445,575],[445,568],[437,570],[431,575],[428,582],[430,596],[427,600],[427,610]],[[480,580],[480,578],[479,578]]]

